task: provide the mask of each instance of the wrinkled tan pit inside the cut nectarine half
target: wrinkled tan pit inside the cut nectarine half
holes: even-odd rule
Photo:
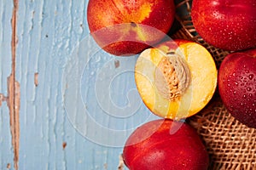
[[[154,79],[156,88],[163,98],[176,101],[189,87],[189,66],[181,56],[175,52],[168,52],[157,66]]]

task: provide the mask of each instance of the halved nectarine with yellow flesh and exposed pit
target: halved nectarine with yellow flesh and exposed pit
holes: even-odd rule
[[[140,54],[135,80],[150,111],[179,120],[195,115],[212,99],[217,69],[206,48],[196,42],[174,40]]]

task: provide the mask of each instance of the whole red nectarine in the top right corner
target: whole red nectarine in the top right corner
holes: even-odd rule
[[[191,17],[199,35],[217,48],[256,47],[255,0],[193,0]]]

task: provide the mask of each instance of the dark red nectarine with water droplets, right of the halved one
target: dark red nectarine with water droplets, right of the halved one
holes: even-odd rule
[[[225,57],[219,68],[218,90],[231,115],[256,128],[256,48]]]

